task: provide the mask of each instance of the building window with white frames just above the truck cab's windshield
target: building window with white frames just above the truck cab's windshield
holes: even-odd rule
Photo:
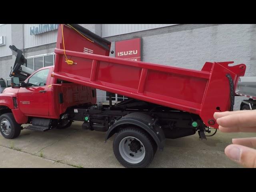
[[[29,57],[27,58],[27,67],[36,71],[42,67],[53,66],[54,60],[55,54]]]

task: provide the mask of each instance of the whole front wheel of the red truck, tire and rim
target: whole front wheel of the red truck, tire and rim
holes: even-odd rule
[[[12,113],[0,116],[0,132],[7,139],[13,139],[20,135],[21,124],[18,124]]]

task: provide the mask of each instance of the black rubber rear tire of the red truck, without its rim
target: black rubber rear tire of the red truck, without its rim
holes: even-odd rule
[[[145,156],[144,159],[136,164],[132,164],[127,162],[122,158],[120,151],[119,151],[119,144],[120,142],[126,137],[134,137],[142,142],[145,148]],[[140,130],[138,128],[128,127],[120,130],[116,137],[114,138],[113,142],[113,151],[117,158],[117,160],[126,168],[145,168],[150,165],[154,158],[154,154],[156,152],[156,144],[152,140],[152,138],[146,133],[144,130]]]

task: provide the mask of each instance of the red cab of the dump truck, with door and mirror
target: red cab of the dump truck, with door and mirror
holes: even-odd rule
[[[40,68],[24,82],[12,77],[12,87],[0,94],[5,98],[0,103],[0,114],[8,110],[18,124],[47,124],[54,128],[62,124],[68,107],[96,103],[95,89],[54,78],[53,69],[54,66]]]

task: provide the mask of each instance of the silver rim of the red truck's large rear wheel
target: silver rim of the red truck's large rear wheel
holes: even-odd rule
[[[119,143],[119,152],[122,158],[131,164],[142,162],[146,154],[144,145],[135,137],[123,138]]]

